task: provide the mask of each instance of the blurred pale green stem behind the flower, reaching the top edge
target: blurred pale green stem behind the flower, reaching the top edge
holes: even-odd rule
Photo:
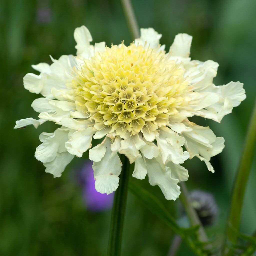
[[[130,0],[121,0],[121,3],[123,6],[124,15],[125,15],[126,22],[129,27],[132,39],[139,38],[140,31],[139,31],[138,23],[135,18]]]

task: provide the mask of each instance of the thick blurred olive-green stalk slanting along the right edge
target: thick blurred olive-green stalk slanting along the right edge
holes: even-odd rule
[[[223,254],[231,255],[227,247],[227,242],[232,244],[237,242],[237,232],[239,230],[241,210],[243,205],[244,192],[246,189],[250,169],[253,161],[254,150],[256,145],[256,101],[251,116],[251,121],[244,142],[244,149],[240,159],[239,167],[237,170],[236,179],[233,185],[232,199],[229,208],[229,216],[226,229],[226,240],[223,246]]]

